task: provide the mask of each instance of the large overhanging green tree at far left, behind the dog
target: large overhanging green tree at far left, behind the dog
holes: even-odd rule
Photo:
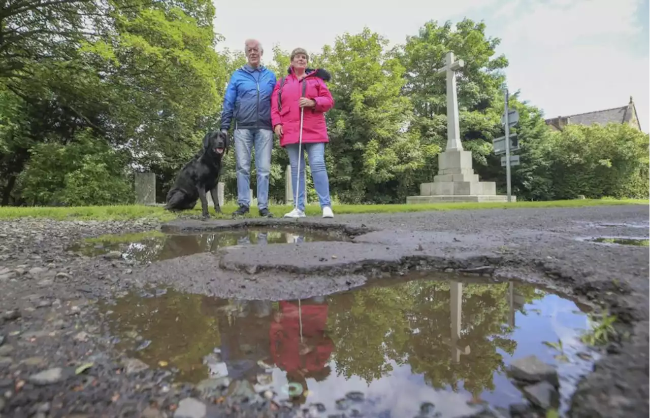
[[[38,13],[43,16],[23,19],[36,26],[21,32],[21,42],[30,51],[42,43],[49,49],[46,55],[21,52],[24,65],[11,77],[0,77],[0,173],[3,180],[8,178],[0,183],[3,204],[21,199],[20,189],[14,190],[20,186],[16,178],[29,166],[39,149],[36,145],[66,146],[86,129],[110,147],[129,150],[130,158],[123,164],[156,172],[164,194],[175,171],[196,153],[205,131],[215,126],[226,61],[214,51],[219,36],[214,34],[212,3],[117,0],[92,3],[92,10],[81,0],[23,3],[40,5]],[[77,10],[78,4],[87,7]],[[73,34],[76,21],[66,17],[68,12],[93,24]],[[3,30],[20,22],[3,21]],[[52,47],[62,35],[51,33],[49,26],[68,28],[72,47]],[[37,35],[51,39],[34,40]],[[0,68],[8,68],[3,51]]]

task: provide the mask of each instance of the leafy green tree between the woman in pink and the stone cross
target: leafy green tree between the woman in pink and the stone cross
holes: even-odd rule
[[[335,106],[326,118],[330,130],[328,170],[331,190],[348,203],[398,200],[398,184],[420,166],[430,149],[408,134],[408,97],[400,96],[404,67],[385,51],[387,40],[365,28],[346,33],[320,60],[333,73]]]

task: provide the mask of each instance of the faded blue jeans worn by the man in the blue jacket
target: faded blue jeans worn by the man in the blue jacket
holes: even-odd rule
[[[235,161],[237,165],[237,203],[250,207],[250,153],[255,147],[257,169],[257,207],[268,208],[268,178],[271,173],[273,131],[268,129],[235,129]]]

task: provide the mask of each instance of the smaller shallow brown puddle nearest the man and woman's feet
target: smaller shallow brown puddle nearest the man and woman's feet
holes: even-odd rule
[[[164,234],[159,231],[151,231],[88,238],[81,243],[71,245],[66,251],[73,251],[91,257],[112,252],[116,257],[125,260],[151,263],[199,252],[213,252],[233,245],[342,240],[344,238],[341,238],[341,236],[326,232],[279,228],[240,228],[198,234]]]

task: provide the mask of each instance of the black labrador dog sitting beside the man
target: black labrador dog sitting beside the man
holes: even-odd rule
[[[227,134],[217,131],[205,134],[203,149],[179,171],[174,186],[167,193],[167,204],[164,208],[170,211],[189,210],[201,199],[203,217],[209,217],[205,193],[210,191],[214,212],[222,213],[216,184],[221,175],[221,159],[228,153],[229,145]]]

